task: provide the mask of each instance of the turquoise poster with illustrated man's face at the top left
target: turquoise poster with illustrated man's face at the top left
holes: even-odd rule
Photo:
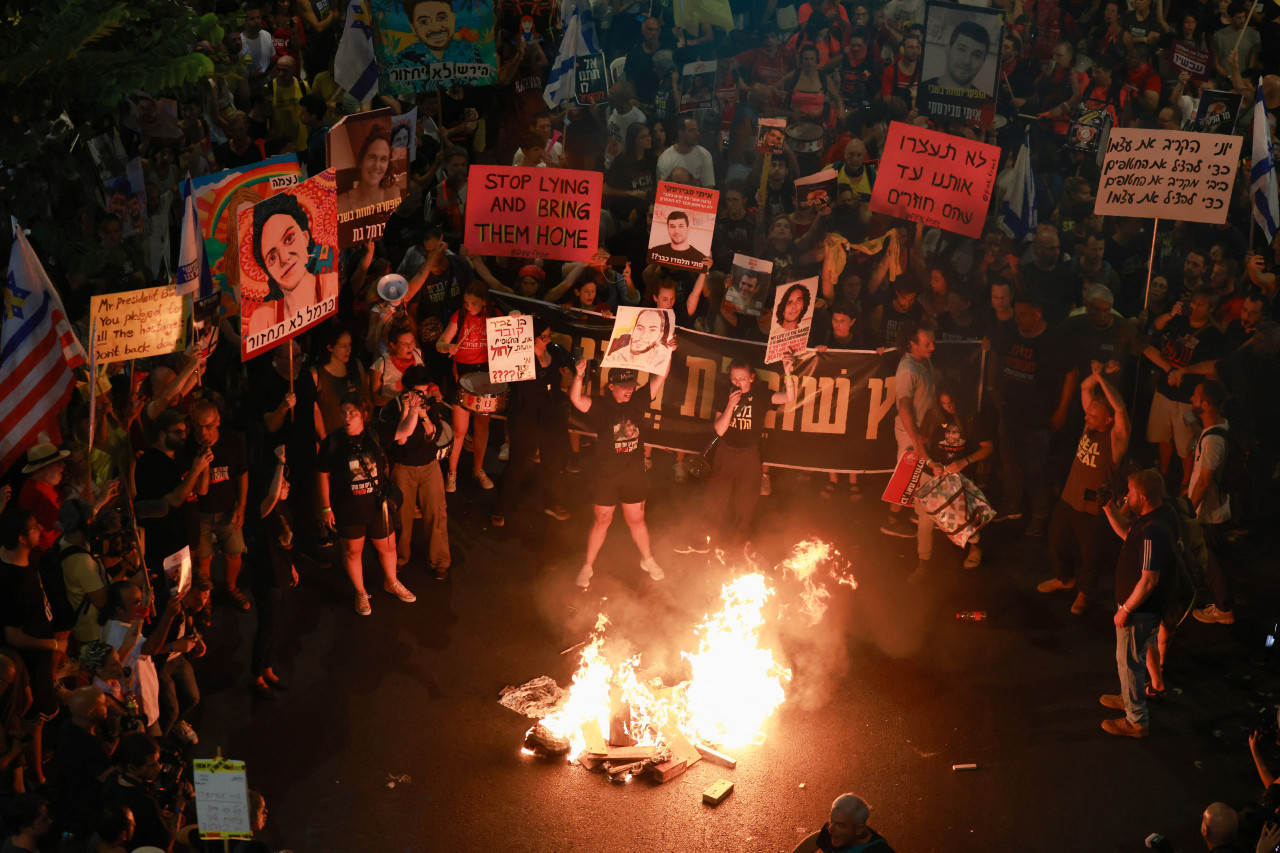
[[[370,5],[379,93],[403,97],[498,82],[493,0],[372,0]]]

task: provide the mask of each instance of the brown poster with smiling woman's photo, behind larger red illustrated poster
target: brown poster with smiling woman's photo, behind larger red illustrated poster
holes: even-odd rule
[[[408,186],[408,149],[392,145],[392,111],[343,118],[326,145],[338,181],[338,248],[381,240]]]

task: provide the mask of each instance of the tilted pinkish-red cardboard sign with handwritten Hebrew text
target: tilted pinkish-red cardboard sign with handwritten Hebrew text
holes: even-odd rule
[[[872,210],[980,237],[998,164],[995,145],[892,122]]]

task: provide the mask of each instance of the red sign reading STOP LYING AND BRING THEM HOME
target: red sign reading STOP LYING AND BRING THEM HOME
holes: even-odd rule
[[[474,165],[463,243],[476,255],[591,260],[604,175],[576,169]]]

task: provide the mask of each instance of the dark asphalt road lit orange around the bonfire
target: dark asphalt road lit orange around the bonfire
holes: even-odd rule
[[[689,628],[714,610],[735,569],[671,553],[700,525],[700,487],[673,484],[669,457],[657,459],[659,583],[640,571],[620,517],[591,592],[576,592],[585,497],[568,523],[530,505],[493,529],[489,494],[465,482],[451,496],[453,576],[436,581],[421,565],[402,575],[417,603],[383,593],[370,570],[374,613],[360,617],[339,569],[302,566],[278,666],[291,689],[276,701],[246,689],[252,613],[218,611],[211,644],[238,652],[197,663],[196,754],[221,747],[248,762],[273,849],[786,852],[822,825],[832,798],[855,792],[900,852],[1126,852],[1160,831],[1185,853],[1204,849],[1208,803],[1261,795],[1247,733],[1254,704],[1275,699],[1275,665],[1261,661],[1263,624],[1277,612],[1271,546],[1228,560],[1235,625],[1188,620],[1179,630],[1152,736],[1116,739],[1101,729],[1114,712],[1098,704],[1119,689],[1114,608],[1074,617],[1070,593],[1038,594],[1043,539],[998,525],[983,566],[966,571],[938,534],[936,579],[910,587],[914,540],[877,529],[882,479],[861,501],[824,501],[819,479],[794,473],[762,500],[762,562],[820,537],[859,587],[840,588],[815,628],[794,613],[773,624],[795,676],[764,743],[733,751],[736,770],[704,761],[666,785],[616,785],[522,756],[530,721],[498,704],[504,685],[539,675],[566,685],[576,656],[559,652],[585,639],[600,608],[649,671],[677,672]],[[955,617],[969,610],[988,617]],[[961,763],[978,768],[952,770]],[[733,783],[732,795],[704,806],[718,779]]]

